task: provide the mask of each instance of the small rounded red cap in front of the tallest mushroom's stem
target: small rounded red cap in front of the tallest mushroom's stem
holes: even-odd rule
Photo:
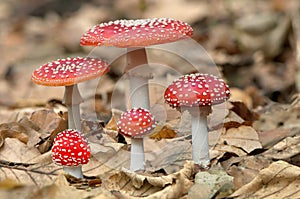
[[[123,113],[117,122],[118,131],[124,136],[142,138],[155,128],[152,114],[143,108],[133,108]]]

